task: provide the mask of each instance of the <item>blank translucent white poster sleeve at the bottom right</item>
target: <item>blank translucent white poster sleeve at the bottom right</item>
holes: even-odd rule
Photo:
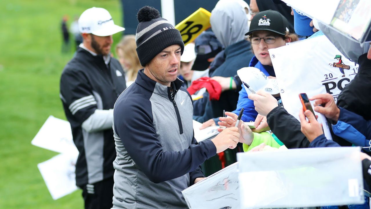
[[[325,147],[239,152],[240,208],[363,204],[360,150]]]

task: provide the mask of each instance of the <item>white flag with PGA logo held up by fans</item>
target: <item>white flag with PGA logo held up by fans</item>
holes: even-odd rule
[[[336,102],[344,86],[358,73],[358,64],[345,58],[324,35],[269,49],[269,54],[283,106],[298,120],[302,107],[299,93],[309,98],[329,93]]]

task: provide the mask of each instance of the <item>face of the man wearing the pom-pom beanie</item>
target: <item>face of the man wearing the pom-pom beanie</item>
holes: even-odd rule
[[[180,68],[181,47],[171,45],[158,53],[144,67],[144,73],[152,80],[170,86],[170,82],[177,79]]]

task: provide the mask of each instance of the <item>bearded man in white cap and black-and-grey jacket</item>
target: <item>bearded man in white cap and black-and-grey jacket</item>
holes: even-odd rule
[[[60,78],[60,99],[79,150],[76,185],[85,208],[111,208],[114,185],[113,107],[126,89],[120,63],[111,57],[112,35],[125,30],[109,12],[92,7],[82,13],[83,42]]]

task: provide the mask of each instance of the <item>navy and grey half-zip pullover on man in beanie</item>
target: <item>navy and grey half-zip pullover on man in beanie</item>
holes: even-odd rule
[[[203,177],[200,165],[216,147],[197,145],[183,82],[167,87],[143,71],[114,107],[114,208],[187,208],[181,191]]]

